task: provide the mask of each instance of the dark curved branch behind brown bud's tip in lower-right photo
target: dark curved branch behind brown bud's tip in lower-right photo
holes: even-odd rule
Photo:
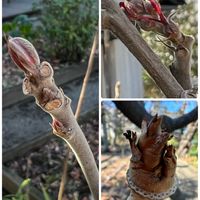
[[[117,108],[126,116],[130,121],[141,128],[142,120],[150,121],[152,115],[149,114],[144,108],[142,101],[114,101]],[[163,116],[162,128],[168,132],[176,129],[183,128],[191,122],[196,121],[198,118],[198,107],[194,108],[187,114],[172,119],[166,115]]]

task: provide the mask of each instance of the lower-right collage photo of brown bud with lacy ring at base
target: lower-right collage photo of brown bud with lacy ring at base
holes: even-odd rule
[[[198,199],[197,101],[102,101],[102,200]]]

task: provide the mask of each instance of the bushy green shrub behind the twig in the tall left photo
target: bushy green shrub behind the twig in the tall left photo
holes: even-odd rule
[[[48,56],[61,61],[79,61],[91,45],[97,26],[94,0],[42,0],[42,25],[38,28]]]

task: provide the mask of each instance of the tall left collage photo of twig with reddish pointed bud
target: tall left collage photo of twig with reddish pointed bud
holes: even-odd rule
[[[98,1],[2,6],[0,199],[99,199]]]

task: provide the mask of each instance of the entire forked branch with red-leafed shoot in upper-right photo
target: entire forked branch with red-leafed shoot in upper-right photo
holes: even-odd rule
[[[181,32],[173,20],[175,13],[165,17],[156,0],[124,0],[119,6],[112,0],[102,0],[102,8],[102,28],[112,31],[125,44],[166,97],[196,97],[191,81],[194,38]],[[135,21],[143,30],[162,35],[173,45],[175,59],[169,68],[138,33],[131,23]]]

